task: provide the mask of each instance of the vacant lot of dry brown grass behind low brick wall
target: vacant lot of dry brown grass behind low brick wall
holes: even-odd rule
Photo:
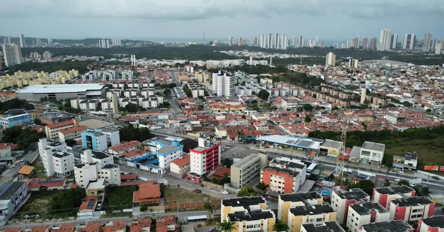
[[[205,193],[194,193],[190,190],[185,190],[177,186],[167,186],[164,190],[165,202],[174,204],[179,200],[179,203],[188,202],[207,202],[217,201],[220,202],[221,198],[207,195]],[[165,203],[165,204],[167,204]]]

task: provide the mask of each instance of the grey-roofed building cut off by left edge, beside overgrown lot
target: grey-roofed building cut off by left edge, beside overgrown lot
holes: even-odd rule
[[[17,207],[28,195],[25,182],[6,182],[0,186],[0,222],[5,223],[14,216]]]

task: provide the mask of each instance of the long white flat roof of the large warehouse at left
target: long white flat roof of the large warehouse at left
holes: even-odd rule
[[[102,90],[103,84],[39,84],[19,89],[16,93],[73,93]]]

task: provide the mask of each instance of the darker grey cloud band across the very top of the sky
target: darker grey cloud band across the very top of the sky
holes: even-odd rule
[[[331,15],[350,18],[436,16],[444,18],[442,0],[2,0],[1,18],[133,18],[195,20],[213,17]]]

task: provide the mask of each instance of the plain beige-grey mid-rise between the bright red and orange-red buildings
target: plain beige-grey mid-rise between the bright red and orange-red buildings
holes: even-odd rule
[[[264,153],[247,154],[230,167],[230,186],[242,189],[260,176],[260,170],[266,165],[268,155]]]

